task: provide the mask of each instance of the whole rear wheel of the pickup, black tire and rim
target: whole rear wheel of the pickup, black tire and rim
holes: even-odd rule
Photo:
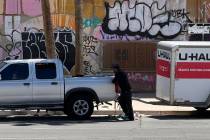
[[[93,100],[89,96],[69,97],[65,113],[73,119],[89,119],[93,113]]]

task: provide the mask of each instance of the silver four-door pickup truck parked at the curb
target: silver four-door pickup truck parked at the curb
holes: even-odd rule
[[[94,103],[116,99],[111,76],[64,77],[57,59],[9,60],[0,63],[0,109],[62,110],[89,118]]]

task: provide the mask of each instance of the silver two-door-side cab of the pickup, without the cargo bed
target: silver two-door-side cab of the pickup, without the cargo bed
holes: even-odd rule
[[[60,61],[5,61],[0,69],[0,106],[62,104]],[[57,68],[56,68],[57,67]]]

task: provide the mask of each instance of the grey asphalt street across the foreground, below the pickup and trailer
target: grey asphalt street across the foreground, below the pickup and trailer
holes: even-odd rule
[[[209,140],[210,113],[145,116],[135,121],[115,116],[71,120],[66,116],[0,117],[0,140]]]

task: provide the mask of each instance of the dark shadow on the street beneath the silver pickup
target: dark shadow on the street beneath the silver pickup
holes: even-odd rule
[[[116,116],[93,116],[89,120],[76,120],[67,116],[0,116],[0,125],[10,123],[13,126],[74,125],[79,123],[122,122]]]

